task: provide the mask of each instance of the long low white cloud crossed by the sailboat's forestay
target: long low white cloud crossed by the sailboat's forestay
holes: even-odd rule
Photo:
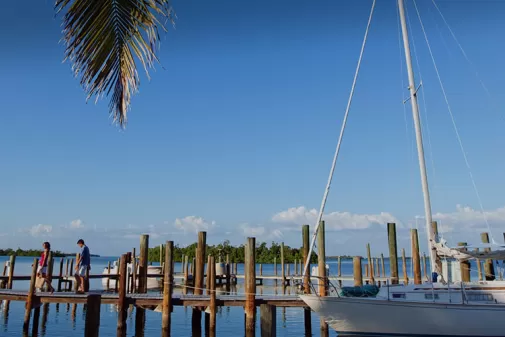
[[[289,208],[279,212],[272,217],[272,221],[278,224],[286,225],[313,225],[317,220],[318,211],[307,209],[305,206]],[[326,229],[344,230],[344,229],[366,229],[374,224],[385,225],[388,222],[395,222],[401,225],[401,222],[392,214],[381,212],[379,214],[354,214],[350,212],[332,212],[323,215]],[[289,227],[283,230],[290,230]],[[296,228],[299,230],[299,228]]]

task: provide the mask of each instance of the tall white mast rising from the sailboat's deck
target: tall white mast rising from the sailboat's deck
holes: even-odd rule
[[[407,23],[405,21],[405,7],[404,1],[398,0],[398,10],[400,12],[400,22],[402,27],[402,36],[403,36],[403,46],[405,49],[405,60],[407,63],[407,70],[409,75],[409,91],[410,91],[410,102],[412,105],[412,117],[414,119],[414,127],[416,130],[416,144],[417,144],[417,156],[419,158],[419,169],[421,173],[421,184],[423,187],[423,197],[424,197],[424,218],[426,220],[426,232],[428,233],[428,248],[430,251],[430,267],[431,271],[436,272],[438,274],[441,273],[441,270],[437,270],[438,266],[436,263],[436,250],[433,246],[436,238],[434,237],[434,233],[431,230],[431,202],[430,202],[430,191],[428,188],[428,177],[426,174],[426,164],[424,161],[424,149],[423,149],[423,136],[421,133],[421,121],[419,118],[419,107],[417,105],[417,88],[414,81],[414,71],[412,70],[412,59],[410,55],[410,46],[409,46],[409,35],[407,30]]]

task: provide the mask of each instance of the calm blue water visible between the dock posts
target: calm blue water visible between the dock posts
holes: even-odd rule
[[[4,261],[8,257],[0,256],[0,266],[3,267]],[[109,261],[116,260],[115,257],[92,258],[92,273],[101,273]],[[29,275],[31,273],[31,263],[33,258],[16,258],[15,275]],[[59,259],[55,261],[54,274],[59,271]],[[330,275],[337,272],[337,264],[328,261],[330,266]],[[401,261],[399,263],[400,275]],[[3,268],[2,268],[3,269]],[[273,265],[263,265],[264,275],[273,275]],[[279,273],[280,267],[278,266]],[[411,270],[410,261],[408,261],[407,270]],[[181,271],[180,263],[176,263],[175,271]],[[238,273],[242,273],[243,265],[238,266]],[[293,265],[291,265],[293,271]],[[386,260],[386,273],[389,273],[389,265]],[[259,268],[257,270],[259,275]],[[342,275],[352,275],[352,261],[342,261]],[[409,276],[410,277],[410,276]],[[476,266],[472,266],[472,279],[477,278]],[[241,280],[239,280],[241,282]],[[53,285],[56,287],[56,282]],[[14,289],[26,290],[29,282],[15,281]],[[345,284],[344,284],[345,285]],[[91,290],[103,290],[101,280],[90,280]],[[179,292],[176,290],[175,292]],[[295,293],[295,289],[287,288],[287,292]],[[239,283],[237,292],[243,293],[243,287]],[[263,294],[281,294],[281,288],[275,288],[273,283],[266,283],[263,287],[257,287],[258,293]],[[191,308],[174,307],[172,313],[172,335],[173,336],[193,336],[191,332]],[[50,304],[41,309],[39,335],[67,337],[73,335],[82,335],[84,333],[84,314],[83,305]],[[24,302],[11,302],[8,314],[4,311],[4,304],[0,304],[0,336],[22,336],[24,316]],[[203,315],[202,315],[203,316]],[[259,318],[259,310],[258,310]],[[116,336],[117,312],[114,305],[102,305],[100,318],[100,336]],[[127,336],[159,336],[161,333],[161,313],[146,311],[146,323],[143,334],[135,335],[135,310],[128,311]],[[203,319],[202,319],[203,327]],[[302,336],[304,331],[303,309],[301,308],[277,308],[277,336]],[[217,313],[217,335],[218,336],[243,336],[244,335],[244,311],[241,307],[223,307]],[[319,317],[312,313],[312,331],[314,336],[319,336]],[[204,333],[202,333],[204,334]],[[336,333],[330,331],[330,336]],[[260,336],[259,319],[257,322],[256,336]]]

